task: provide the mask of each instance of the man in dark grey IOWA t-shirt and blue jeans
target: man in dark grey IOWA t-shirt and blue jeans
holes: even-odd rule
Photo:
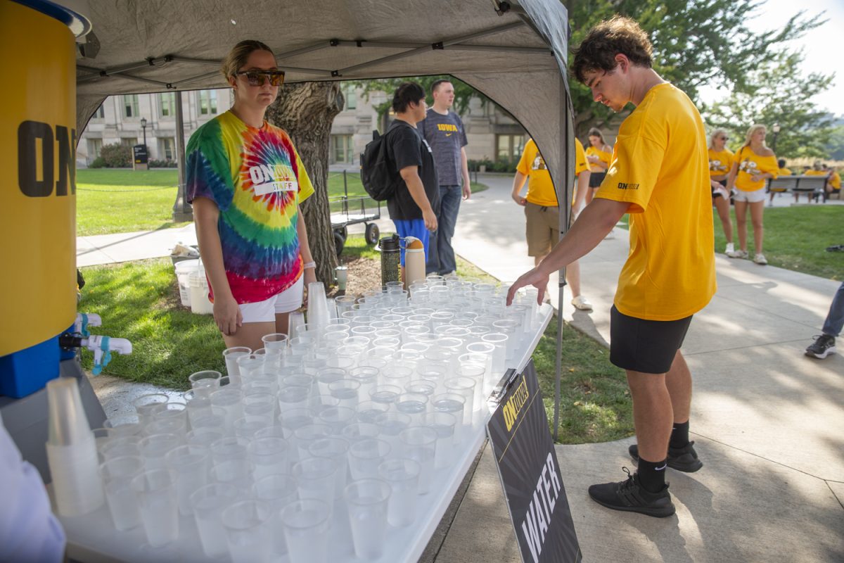
[[[449,275],[457,271],[452,237],[457,225],[460,200],[472,196],[466,159],[466,130],[463,121],[454,111],[454,85],[448,80],[437,80],[430,87],[434,97],[425,119],[417,123],[422,138],[430,145],[436,163],[436,176],[440,181],[440,211],[436,214],[436,232],[431,233],[430,252],[425,273]]]

